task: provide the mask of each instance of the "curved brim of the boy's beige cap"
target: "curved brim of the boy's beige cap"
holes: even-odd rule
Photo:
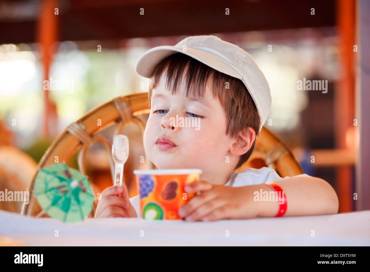
[[[137,73],[143,77],[149,78],[152,75],[155,66],[161,60],[171,54],[175,54],[176,52],[180,52],[192,58],[195,58],[201,63],[204,63],[209,67],[224,74],[242,79],[242,77],[238,73],[236,73],[236,71],[231,66],[220,60],[218,57],[192,48],[186,48],[186,51],[183,51],[183,48],[175,46],[158,46],[145,52],[136,64]]]

